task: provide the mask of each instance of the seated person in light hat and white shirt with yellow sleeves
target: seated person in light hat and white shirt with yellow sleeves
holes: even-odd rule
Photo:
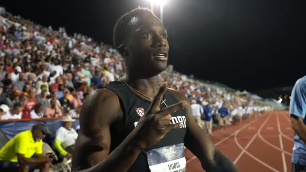
[[[70,158],[74,152],[77,133],[72,128],[72,122],[76,121],[71,116],[63,116],[63,126],[56,131],[54,140],[55,149],[63,156]]]

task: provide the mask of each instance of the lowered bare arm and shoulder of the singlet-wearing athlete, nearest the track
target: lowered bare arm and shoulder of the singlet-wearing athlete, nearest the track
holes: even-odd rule
[[[179,101],[187,101],[180,92],[171,90]],[[238,172],[233,163],[225,157],[201,130],[192,118],[190,103],[185,108],[187,133],[184,139],[185,146],[200,160],[206,172]]]

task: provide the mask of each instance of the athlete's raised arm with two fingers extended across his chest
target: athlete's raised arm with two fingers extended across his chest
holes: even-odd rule
[[[126,172],[142,149],[159,141],[169,131],[180,128],[180,123],[170,124],[171,115],[168,114],[186,103],[160,110],[165,89],[165,86],[161,87],[136,128],[111,153],[111,133],[119,133],[115,130],[122,129],[124,125],[119,100],[108,89],[95,90],[89,95],[80,112],[72,172]]]

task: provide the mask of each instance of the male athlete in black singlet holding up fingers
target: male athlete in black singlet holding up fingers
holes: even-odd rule
[[[185,172],[184,145],[207,172],[238,172],[196,124],[188,99],[158,85],[167,37],[147,8],[117,21],[113,39],[126,75],[84,101],[72,172]]]

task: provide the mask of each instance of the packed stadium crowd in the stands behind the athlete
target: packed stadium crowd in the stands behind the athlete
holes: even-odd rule
[[[81,34],[70,36],[64,28],[56,31],[34,24],[3,8],[0,12],[1,120],[77,117],[90,92],[125,72],[122,57],[108,44]],[[230,116],[264,110],[262,104],[249,97],[178,72],[164,71],[159,78],[160,83],[167,82],[190,101],[210,107],[213,116],[218,116],[223,104]]]

